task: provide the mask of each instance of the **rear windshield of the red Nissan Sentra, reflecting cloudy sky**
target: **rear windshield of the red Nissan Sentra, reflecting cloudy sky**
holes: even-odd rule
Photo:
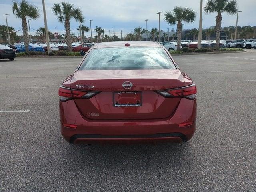
[[[79,70],[176,69],[163,48],[113,47],[92,49]]]

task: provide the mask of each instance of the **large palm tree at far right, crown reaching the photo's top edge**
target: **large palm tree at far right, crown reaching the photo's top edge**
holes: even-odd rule
[[[222,13],[226,12],[230,15],[236,14],[238,12],[236,0],[208,0],[206,6],[204,7],[206,13],[217,12],[216,16],[216,45],[217,50],[220,49],[220,30],[221,30],[221,21]]]

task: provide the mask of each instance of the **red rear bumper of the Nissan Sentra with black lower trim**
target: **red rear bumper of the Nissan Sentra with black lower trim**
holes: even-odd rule
[[[60,102],[61,133],[71,143],[182,142],[196,130],[196,100],[182,98],[172,117],[158,120],[90,120],[73,100]],[[178,126],[193,122],[188,126]],[[63,124],[77,125],[69,128]]]

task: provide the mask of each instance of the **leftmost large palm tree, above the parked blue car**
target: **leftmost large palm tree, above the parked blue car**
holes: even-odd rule
[[[21,2],[14,1],[12,5],[12,12],[17,18],[22,20],[22,30],[24,37],[25,50],[28,51],[29,36],[28,36],[28,24],[27,19],[30,18],[36,20],[39,18],[39,9],[33,4],[29,4],[27,0],[22,0]]]

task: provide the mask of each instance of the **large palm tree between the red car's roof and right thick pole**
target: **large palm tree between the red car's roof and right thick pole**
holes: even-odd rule
[[[177,23],[177,44],[178,50],[180,50],[181,34],[182,34],[182,22],[194,22],[196,19],[196,12],[190,8],[174,7],[172,12],[166,12],[164,14],[164,20],[170,25]]]

